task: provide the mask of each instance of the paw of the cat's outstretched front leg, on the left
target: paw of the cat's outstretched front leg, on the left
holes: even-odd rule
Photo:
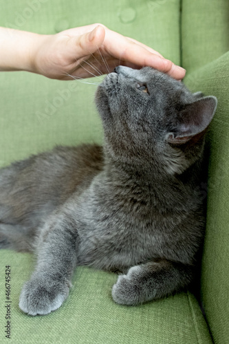
[[[61,307],[69,294],[69,283],[32,278],[21,290],[19,308],[30,315],[45,315]]]

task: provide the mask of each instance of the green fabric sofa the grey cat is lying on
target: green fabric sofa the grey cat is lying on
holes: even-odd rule
[[[0,8],[1,26],[41,34],[103,23],[186,68],[184,83],[193,92],[218,98],[208,136],[208,211],[199,301],[187,290],[137,307],[117,305],[111,299],[116,275],[83,267],[76,269],[69,298],[59,310],[28,316],[18,303],[34,257],[1,250],[0,343],[9,341],[6,266],[11,275],[10,343],[229,343],[229,1],[1,0]],[[0,166],[55,144],[102,142],[96,86],[1,72],[0,87]]]

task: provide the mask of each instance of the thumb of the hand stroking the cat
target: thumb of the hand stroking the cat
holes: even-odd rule
[[[74,56],[82,58],[93,54],[102,45],[105,39],[105,28],[102,25],[96,26],[94,30],[74,36],[69,40],[69,44],[74,48]]]

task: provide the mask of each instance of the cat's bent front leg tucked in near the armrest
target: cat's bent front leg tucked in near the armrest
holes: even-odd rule
[[[138,305],[166,297],[190,283],[193,266],[165,259],[133,266],[120,275],[112,288],[112,297],[122,305]]]

